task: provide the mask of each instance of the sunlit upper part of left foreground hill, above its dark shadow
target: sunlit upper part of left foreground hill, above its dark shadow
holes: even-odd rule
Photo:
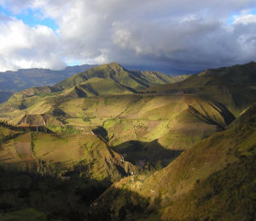
[[[63,137],[53,133],[21,134],[1,144],[0,165],[51,175],[81,173],[110,181],[134,171],[131,163],[93,134]]]

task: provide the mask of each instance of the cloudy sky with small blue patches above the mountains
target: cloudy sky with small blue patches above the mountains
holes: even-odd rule
[[[250,61],[255,0],[0,0],[0,71],[118,62],[176,74]]]

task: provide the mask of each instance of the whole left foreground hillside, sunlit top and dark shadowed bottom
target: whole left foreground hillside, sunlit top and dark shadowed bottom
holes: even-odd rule
[[[92,133],[60,136],[2,124],[1,220],[84,220],[110,184],[135,172]]]

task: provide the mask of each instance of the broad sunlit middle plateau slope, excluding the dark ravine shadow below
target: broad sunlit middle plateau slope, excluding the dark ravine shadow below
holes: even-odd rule
[[[12,109],[8,104],[2,107],[3,111],[9,108],[2,112],[9,122],[47,127],[68,125],[89,132],[102,126],[112,146],[130,140],[158,139],[164,148],[174,150],[189,148],[235,119],[223,105],[190,95],[126,94],[88,98],[59,95],[44,97],[24,110]]]

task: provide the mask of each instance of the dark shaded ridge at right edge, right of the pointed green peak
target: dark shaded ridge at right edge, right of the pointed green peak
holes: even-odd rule
[[[203,71],[183,82],[152,87],[144,93],[201,94],[225,105],[239,116],[248,105],[256,101],[256,63],[235,65]]]

